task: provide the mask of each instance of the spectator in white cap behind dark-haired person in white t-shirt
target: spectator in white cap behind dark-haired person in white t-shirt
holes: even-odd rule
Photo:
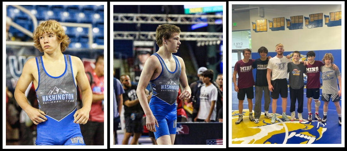
[[[191,85],[189,86],[192,90],[192,97],[191,99],[189,99],[188,102],[193,102],[193,114],[192,114],[192,119],[194,120],[195,117],[197,116],[197,113],[199,111],[199,107],[200,107],[200,88],[203,85],[202,79],[204,78],[204,76],[202,76],[202,73],[204,71],[206,71],[207,68],[206,67],[200,67],[197,70],[197,77],[199,77],[199,80],[191,83]]]

